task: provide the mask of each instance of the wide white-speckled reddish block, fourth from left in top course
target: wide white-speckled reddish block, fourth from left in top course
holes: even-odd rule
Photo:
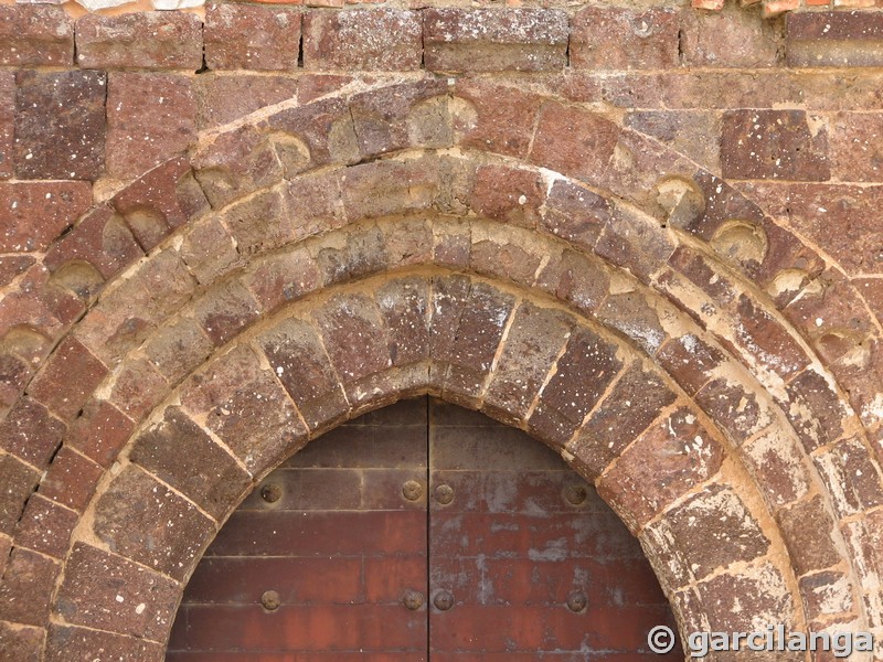
[[[396,9],[304,14],[304,68],[408,71],[421,67],[421,15]]]

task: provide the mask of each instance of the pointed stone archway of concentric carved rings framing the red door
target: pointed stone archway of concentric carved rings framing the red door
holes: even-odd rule
[[[521,121],[486,103],[500,95]],[[206,132],[192,170],[169,161],[58,241],[17,303],[88,311],[4,424],[47,430],[4,456],[24,524],[2,591],[28,577],[41,595],[8,601],[11,637],[47,628],[49,659],[155,658],[256,480],[422,393],[528,429],[596,481],[684,632],[879,628],[880,474],[868,403],[838,383],[868,375],[837,367],[854,348],[816,333],[833,303],[806,288],[837,271],[726,182],[571,100],[432,76],[344,87]],[[22,324],[12,340],[39,354],[49,340]],[[245,427],[263,430],[247,448]],[[47,516],[70,541],[29,537]]]

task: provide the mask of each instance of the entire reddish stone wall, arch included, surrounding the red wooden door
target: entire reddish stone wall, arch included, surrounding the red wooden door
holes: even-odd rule
[[[595,481],[685,632],[883,642],[882,60],[873,10],[0,7],[0,654],[162,659],[244,494],[425,393]]]

